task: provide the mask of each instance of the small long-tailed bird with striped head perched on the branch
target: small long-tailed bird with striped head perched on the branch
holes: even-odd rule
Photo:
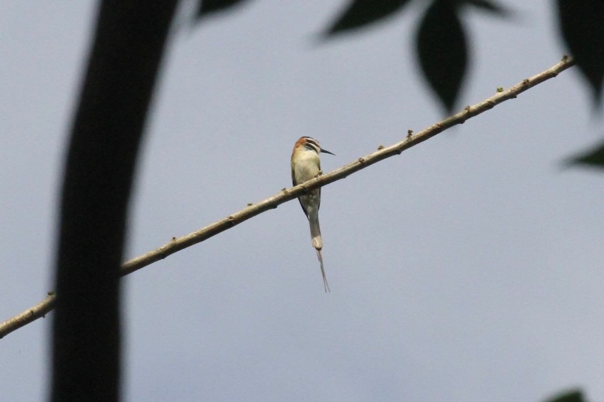
[[[304,183],[313,177],[319,177],[321,172],[321,159],[319,154],[335,155],[332,152],[322,149],[319,142],[312,137],[300,137],[294,145],[292,151],[292,183],[294,186]],[[310,190],[308,193],[298,197],[302,210],[308,218],[310,224],[310,237],[312,238],[312,247],[316,250],[316,256],[321,263],[321,273],[323,274],[323,286],[325,292],[330,292],[325,269],[323,268],[323,239],[321,239],[321,228],[319,227],[319,206],[321,204],[321,187]]]

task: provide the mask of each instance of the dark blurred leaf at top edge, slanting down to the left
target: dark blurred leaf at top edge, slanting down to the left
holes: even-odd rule
[[[364,27],[391,16],[409,0],[352,0],[344,13],[325,32],[325,36]]]

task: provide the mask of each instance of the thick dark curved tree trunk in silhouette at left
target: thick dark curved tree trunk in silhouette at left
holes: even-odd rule
[[[104,0],[71,128],[53,321],[53,401],[120,397],[120,264],[144,123],[176,0]]]

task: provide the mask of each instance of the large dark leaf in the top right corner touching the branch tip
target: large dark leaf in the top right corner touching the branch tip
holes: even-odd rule
[[[562,38],[599,105],[604,81],[604,1],[557,0],[557,5]]]

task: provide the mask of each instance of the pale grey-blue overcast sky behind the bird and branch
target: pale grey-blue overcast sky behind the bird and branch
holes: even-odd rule
[[[503,0],[502,0],[503,2]],[[550,2],[467,13],[460,108],[564,53]],[[125,259],[443,117],[420,76],[422,2],[316,45],[343,0],[249,6],[175,30],[140,158]],[[92,1],[0,3],[0,321],[53,288],[57,195]],[[297,201],[124,280],[126,401],[604,400],[602,137],[576,69],[323,189],[324,294]],[[45,400],[51,316],[0,340],[0,394]]]

